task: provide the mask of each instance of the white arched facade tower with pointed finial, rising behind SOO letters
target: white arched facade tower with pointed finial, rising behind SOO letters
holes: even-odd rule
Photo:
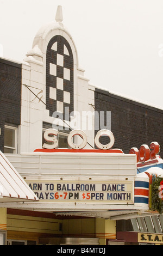
[[[26,144],[22,152],[42,147],[40,138],[47,126],[63,131],[75,128],[76,112],[81,117],[77,125],[82,124],[83,113],[92,111],[95,105],[94,90],[84,77],[85,70],[79,67],[76,45],[62,20],[59,7],[55,21],[39,29],[23,59],[21,136],[26,137]],[[92,130],[86,134],[93,145]]]

